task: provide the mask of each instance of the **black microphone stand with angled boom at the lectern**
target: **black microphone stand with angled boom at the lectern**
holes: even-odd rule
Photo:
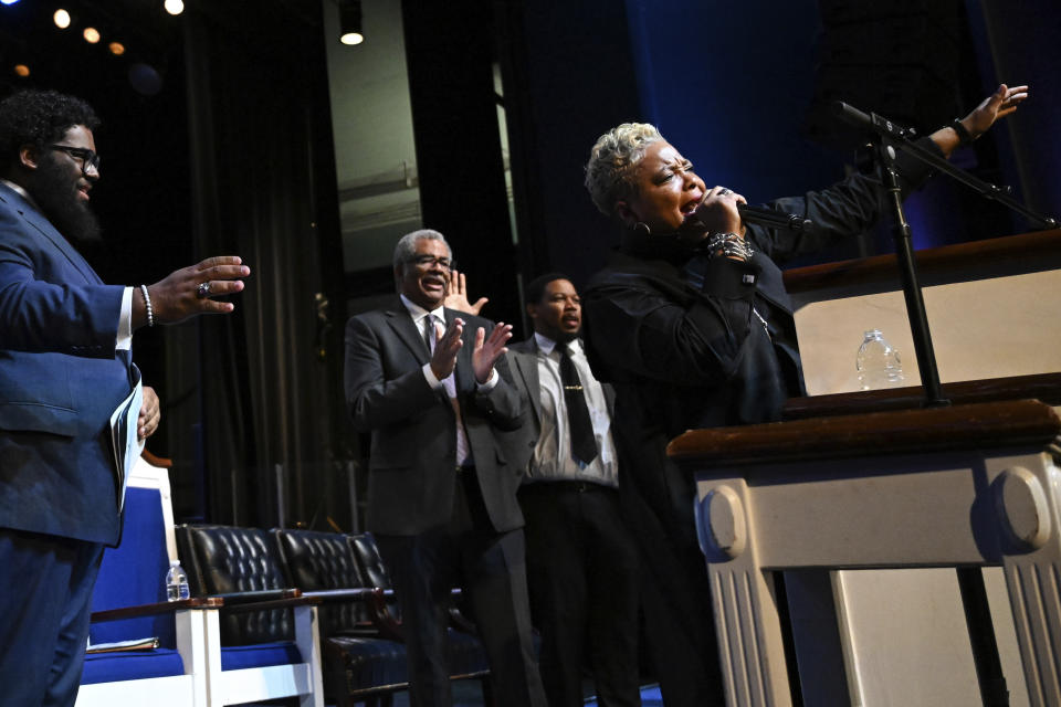
[[[845,103],[838,102],[837,114],[844,120],[869,128],[874,134],[875,156],[884,187],[889,192],[892,209],[895,213],[893,236],[895,251],[903,277],[903,294],[906,297],[906,313],[910,317],[911,333],[914,337],[914,349],[917,352],[917,366],[921,369],[921,382],[925,390],[925,407],[948,405],[939,388],[939,370],[936,367],[936,357],[932,348],[932,337],[928,334],[928,319],[925,315],[924,298],[917,281],[917,265],[914,257],[913,238],[910,223],[903,211],[902,193],[899,187],[899,173],[895,171],[895,148],[927,162],[941,172],[973,188],[988,199],[1006,204],[1013,211],[1026,217],[1029,221],[1042,229],[1057,228],[1058,222],[1028,209],[1009,196],[1009,189],[1004,189],[977,179],[963,169],[959,169],[942,159],[937,155],[924,149],[911,140],[912,130],[902,128],[875,113],[863,113]],[[987,592],[984,585],[984,574],[978,567],[958,568],[958,589],[962,593],[962,604],[965,609],[965,622],[969,631],[969,642],[973,648],[973,659],[976,665],[977,682],[980,696],[985,705],[1008,705],[1009,692],[1006,678],[1002,675],[1001,661],[998,656],[998,644],[995,637],[995,626],[991,622],[990,606],[987,602]]]

